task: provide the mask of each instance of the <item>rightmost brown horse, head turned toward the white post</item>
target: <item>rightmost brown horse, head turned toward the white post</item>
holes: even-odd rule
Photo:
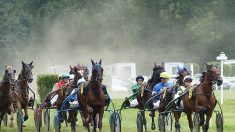
[[[189,92],[183,97],[184,110],[187,114],[189,128],[193,131],[192,112],[199,114],[200,126],[204,132],[209,129],[209,121],[212,112],[217,104],[212,85],[222,85],[223,79],[216,66],[206,64],[206,72],[201,83],[192,90],[192,97],[189,98]],[[204,115],[206,115],[206,122]],[[205,124],[204,124],[205,122]]]

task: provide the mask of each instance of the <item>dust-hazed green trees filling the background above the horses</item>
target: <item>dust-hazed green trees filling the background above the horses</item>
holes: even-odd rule
[[[47,41],[44,37],[54,26],[76,38],[67,47],[138,46],[149,54],[173,49],[177,55],[167,58],[190,54],[187,62],[200,63],[214,60],[220,51],[235,58],[231,0],[1,0],[0,5],[1,63],[24,56],[25,47],[43,47],[42,40]]]

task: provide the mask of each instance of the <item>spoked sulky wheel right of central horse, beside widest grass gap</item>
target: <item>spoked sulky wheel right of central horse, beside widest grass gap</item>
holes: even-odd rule
[[[121,118],[119,113],[113,112],[109,118],[111,132],[121,132]]]

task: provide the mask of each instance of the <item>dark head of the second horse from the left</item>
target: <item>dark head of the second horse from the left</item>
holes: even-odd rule
[[[33,73],[32,73],[32,69],[33,69],[33,61],[30,62],[29,64],[24,63],[22,61],[22,69],[21,69],[21,77],[23,80],[26,80],[28,83],[31,83],[33,81]]]

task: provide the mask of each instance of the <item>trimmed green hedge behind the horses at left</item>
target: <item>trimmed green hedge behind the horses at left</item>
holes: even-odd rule
[[[58,82],[58,75],[56,74],[42,74],[37,76],[37,90],[41,101],[52,90],[56,82]]]

